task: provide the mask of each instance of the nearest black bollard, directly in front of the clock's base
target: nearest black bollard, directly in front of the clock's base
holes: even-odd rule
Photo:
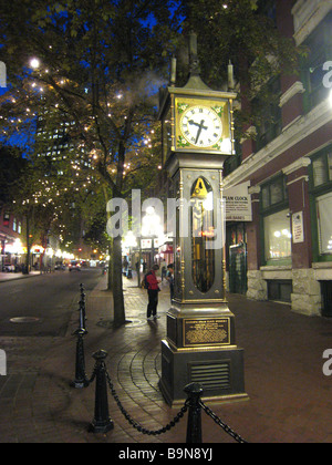
[[[200,397],[203,395],[203,388],[200,384],[191,383],[185,388],[185,393],[188,395],[188,426],[187,426],[187,444],[201,444],[201,406]]]

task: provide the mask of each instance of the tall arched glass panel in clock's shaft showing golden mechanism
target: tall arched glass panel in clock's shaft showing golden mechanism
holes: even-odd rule
[[[214,192],[203,177],[191,188],[191,265],[193,281],[203,293],[215,282],[215,250],[208,247],[215,239]]]

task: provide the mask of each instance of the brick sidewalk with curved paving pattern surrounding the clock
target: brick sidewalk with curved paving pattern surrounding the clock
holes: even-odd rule
[[[166,334],[169,294],[160,292],[156,322],[146,321],[146,291],[125,279],[126,318],[132,323],[113,330],[112,296],[105,278],[89,294],[86,372],[92,353],[108,352],[107,370],[122,404],[148,430],[173,420],[158,390],[160,340]],[[248,301],[229,296],[236,314],[237,342],[245,349],[249,401],[210,405],[211,410],[249,442],[331,442],[332,379],[322,373],[322,353],[332,347],[332,321],[307,318],[288,306]],[[70,388],[74,378],[77,311],[65,338],[0,338],[11,360],[0,378],[0,442],[39,443],[183,443],[187,417],[166,434],[146,436],[131,426],[108,395],[114,430],[106,435],[86,432],[94,414],[94,385]],[[204,443],[234,442],[203,414]]]

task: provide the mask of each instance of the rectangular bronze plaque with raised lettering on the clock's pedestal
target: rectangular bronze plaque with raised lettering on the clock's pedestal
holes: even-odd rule
[[[184,347],[229,344],[229,318],[197,318],[184,320]]]

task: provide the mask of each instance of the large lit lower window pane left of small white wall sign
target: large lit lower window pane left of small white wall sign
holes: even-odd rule
[[[264,217],[266,260],[281,260],[291,257],[291,225],[289,210]]]

